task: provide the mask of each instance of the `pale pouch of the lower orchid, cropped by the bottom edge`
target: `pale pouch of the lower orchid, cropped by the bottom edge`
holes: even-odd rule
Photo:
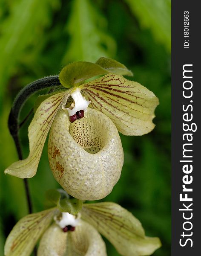
[[[67,233],[53,224],[40,240],[37,256],[55,255],[106,256],[106,247],[97,230],[84,221]]]

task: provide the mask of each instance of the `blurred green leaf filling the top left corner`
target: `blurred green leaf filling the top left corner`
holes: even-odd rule
[[[26,57],[43,41],[43,32],[51,25],[51,12],[57,8],[59,1],[10,2],[6,18],[1,21],[0,59],[4,61],[0,63],[0,84],[6,84],[10,76],[16,75],[22,55]],[[5,86],[0,86],[0,97],[4,90]]]

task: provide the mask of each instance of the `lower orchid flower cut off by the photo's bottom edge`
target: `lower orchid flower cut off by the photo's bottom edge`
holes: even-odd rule
[[[66,205],[70,200],[75,199]],[[141,222],[118,204],[83,204],[71,213],[60,210],[23,217],[6,240],[5,256],[29,256],[40,237],[37,256],[106,256],[100,234],[123,256],[151,255],[161,247],[160,239],[145,236]]]

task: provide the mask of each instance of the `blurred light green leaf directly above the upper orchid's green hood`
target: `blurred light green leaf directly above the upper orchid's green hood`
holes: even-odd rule
[[[69,44],[63,64],[71,61],[96,61],[100,56],[114,56],[116,43],[107,30],[107,20],[89,0],[72,1],[66,26]]]

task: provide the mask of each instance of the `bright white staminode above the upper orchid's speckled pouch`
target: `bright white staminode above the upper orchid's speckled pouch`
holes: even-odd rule
[[[80,110],[86,111],[91,101],[86,100],[85,97],[82,96],[80,93],[80,88],[77,88],[75,91],[73,91],[71,96],[75,102],[75,106],[72,104],[73,109],[67,108],[69,116],[75,115],[75,113]]]

